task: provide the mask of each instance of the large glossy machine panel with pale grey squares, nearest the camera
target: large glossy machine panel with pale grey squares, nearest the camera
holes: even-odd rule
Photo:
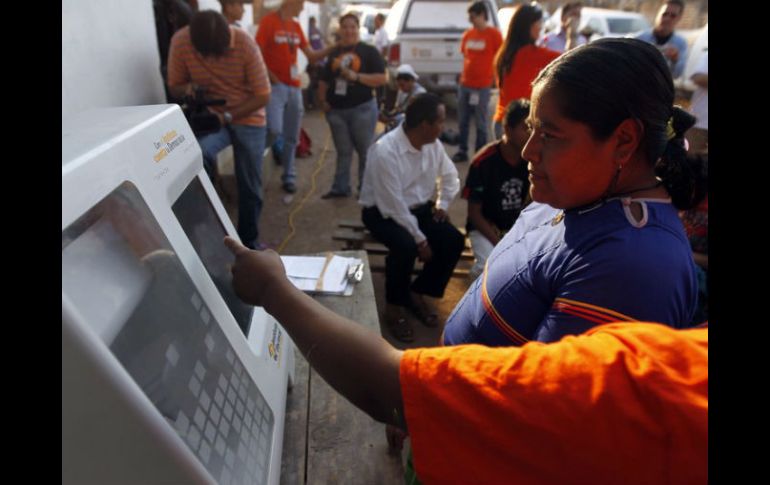
[[[273,411],[132,184],[62,231],[62,298],[218,483],[267,481]]]

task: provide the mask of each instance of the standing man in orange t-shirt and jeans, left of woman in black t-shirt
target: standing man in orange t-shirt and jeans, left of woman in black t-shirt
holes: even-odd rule
[[[335,46],[321,51],[310,48],[299,22],[299,16],[305,6],[304,0],[284,0],[280,8],[265,15],[257,31],[257,44],[265,56],[265,64],[270,75],[272,94],[267,106],[267,127],[269,138],[283,138],[281,160],[283,176],[281,181],[285,192],[297,191],[297,172],[294,168],[294,156],[299,141],[300,122],[304,113],[300,73],[297,66],[297,50],[307,56],[308,62],[314,63],[324,57]]]

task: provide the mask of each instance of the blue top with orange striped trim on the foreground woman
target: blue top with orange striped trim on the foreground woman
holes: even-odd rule
[[[687,326],[698,285],[682,223],[670,203],[643,206],[634,224],[619,199],[563,216],[530,204],[449,316],[444,343],[554,342],[616,321]]]

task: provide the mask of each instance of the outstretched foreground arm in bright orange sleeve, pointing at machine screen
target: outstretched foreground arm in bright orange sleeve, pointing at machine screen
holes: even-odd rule
[[[238,296],[350,402],[408,427],[425,484],[707,483],[707,326],[403,352],[296,289],[274,251],[225,244]]]

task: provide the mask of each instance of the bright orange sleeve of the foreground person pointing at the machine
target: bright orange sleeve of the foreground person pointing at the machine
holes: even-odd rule
[[[400,380],[426,485],[707,482],[708,328],[407,350]]]

